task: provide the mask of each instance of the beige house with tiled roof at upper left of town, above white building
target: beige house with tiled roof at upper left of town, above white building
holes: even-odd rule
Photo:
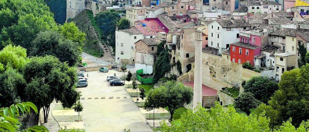
[[[130,27],[134,25],[135,21],[143,20],[146,18],[146,8],[134,6],[126,10],[126,19],[130,22]]]

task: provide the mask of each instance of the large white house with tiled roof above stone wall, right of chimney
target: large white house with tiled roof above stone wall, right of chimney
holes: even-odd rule
[[[208,25],[208,46],[219,49],[219,54],[239,41],[239,31],[250,29],[244,19],[215,20]]]

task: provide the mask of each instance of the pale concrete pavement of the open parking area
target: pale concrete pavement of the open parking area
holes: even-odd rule
[[[86,132],[103,131],[152,131],[123,86],[110,86],[107,76],[121,76],[121,72],[110,70],[108,73],[99,71],[88,73],[88,87],[78,88],[84,109],[82,118]],[[88,99],[90,98],[91,99]],[[97,99],[95,99],[98,97]],[[105,97],[105,99],[101,99]],[[113,97],[109,99],[109,97]],[[120,97],[120,98],[117,98]],[[127,98],[125,98],[127,97]]]

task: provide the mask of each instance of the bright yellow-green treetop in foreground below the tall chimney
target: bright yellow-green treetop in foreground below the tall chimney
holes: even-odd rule
[[[188,109],[177,122],[171,122],[171,126],[163,122],[162,132],[268,132],[269,120],[266,117],[256,115],[247,116],[238,113],[233,106],[225,109],[218,102],[210,110],[201,106],[193,112]]]

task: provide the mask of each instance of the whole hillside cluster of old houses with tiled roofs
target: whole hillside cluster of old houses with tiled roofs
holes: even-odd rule
[[[195,47],[201,43],[202,72],[211,75],[211,79],[203,77],[203,90],[205,86],[206,90],[217,91],[222,87],[241,87],[241,80],[253,75],[280,81],[283,72],[298,67],[299,47],[309,51],[309,4],[306,5],[309,2],[303,0],[303,4],[299,4],[299,0],[141,2],[126,9],[130,28],[116,30],[115,62],[135,64],[144,74],[154,72],[158,57],[155,53],[162,41],[166,42],[171,56],[172,67],[166,76],[176,74],[183,81],[193,80],[190,74],[197,56]],[[198,32],[201,35],[197,35]],[[224,63],[219,64],[217,60]],[[251,64],[260,73],[243,70],[244,63]],[[207,92],[204,95],[203,92],[203,96],[220,98],[221,95],[207,95]],[[222,101],[223,105],[230,103]]]

